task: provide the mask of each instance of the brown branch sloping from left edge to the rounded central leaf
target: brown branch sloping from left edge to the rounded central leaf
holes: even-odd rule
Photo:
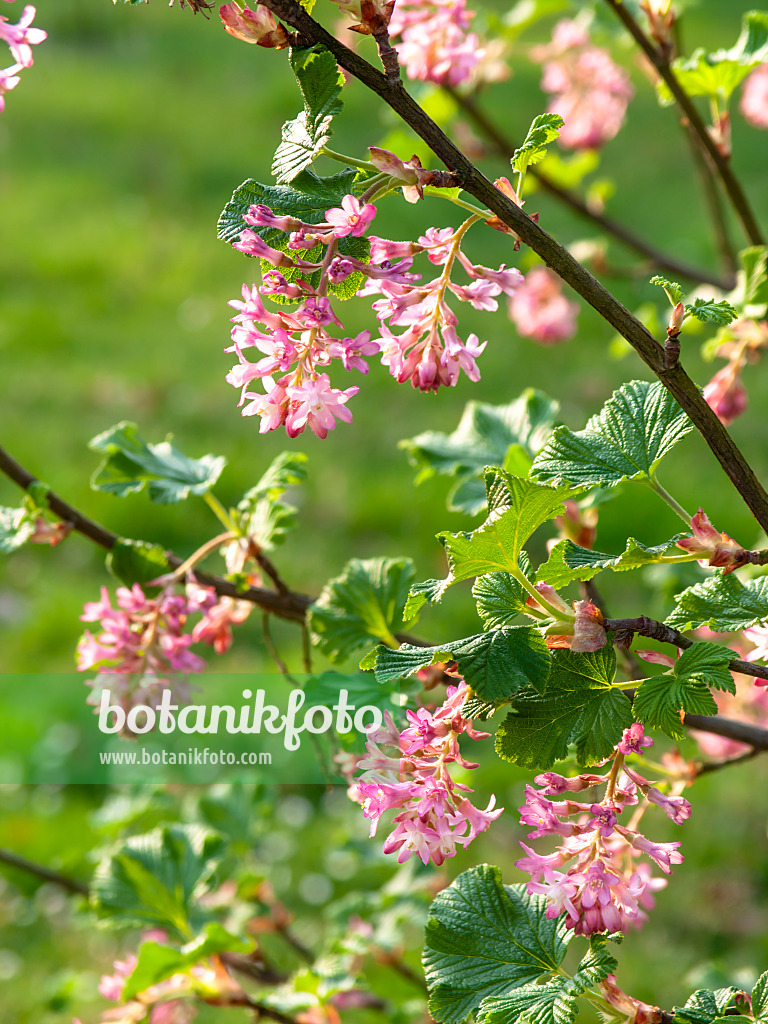
[[[29,490],[33,484],[39,482],[37,477],[33,476],[24,466],[19,465],[2,447],[0,447],[0,472],[5,473],[6,476],[25,490]],[[113,534],[112,530],[105,529],[99,523],[94,522],[93,519],[84,516],[52,490],[47,492],[46,501],[48,508],[55,516],[58,516],[59,519],[63,519],[66,522],[72,523],[73,528],[77,532],[82,534],[83,537],[87,537],[88,540],[93,541],[99,547],[111,551],[120,540],[117,534]],[[165,556],[168,559],[168,564],[173,566],[173,568],[178,568],[179,565],[183,564],[183,559],[171,551],[166,551]],[[261,587],[249,587],[247,590],[240,590],[229,580],[212,575],[209,572],[203,572],[200,569],[195,570],[195,578],[202,586],[212,587],[220,597],[234,597],[240,601],[251,601],[253,604],[257,604],[260,608],[263,608],[264,611],[297,623],[304,622],[306,610],[313,600],[313,598],[307,597],[305,594],[297,594],[288,590],[285,588],[285,584],[283,584],[285,590],[275,593]]]

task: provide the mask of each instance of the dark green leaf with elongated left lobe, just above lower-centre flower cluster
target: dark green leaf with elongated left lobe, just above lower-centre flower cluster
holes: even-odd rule
[[[456,662],[467,685],[493,702],[509,699],[527,686],[543,690],[550,670],[547,642],[535,626],[505,626],[437,647],[380,646],[374,671],[379,682],[386,683],[436,662]]]

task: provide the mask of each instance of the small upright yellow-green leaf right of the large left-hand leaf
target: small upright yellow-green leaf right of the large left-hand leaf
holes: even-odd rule
[[[283,544],[296,525],[296,508],[281,498],[288,487],[304,482],[306,461],[301,452],[282,452],[238,504],[237,513],[243,529],[267,551]]]

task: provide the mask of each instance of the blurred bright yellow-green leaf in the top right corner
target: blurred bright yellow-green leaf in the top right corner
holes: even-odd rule
[[[708,53],[699,48],[690,57],[672,61],[678,82],[689,96],[709,96],[722,103],[758,65],[768,60],[768,13],[748,11],[741,20],[741,34],[729,50]],[[664,82],[657,85],[662,103],[674,102]]]

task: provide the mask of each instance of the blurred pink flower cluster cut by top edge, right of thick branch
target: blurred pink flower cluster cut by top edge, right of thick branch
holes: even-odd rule
[[[466,0],[397,0],[389,34],[408,77],[451,86],[469,81],[485,54],[469,31],[473,17]]]

